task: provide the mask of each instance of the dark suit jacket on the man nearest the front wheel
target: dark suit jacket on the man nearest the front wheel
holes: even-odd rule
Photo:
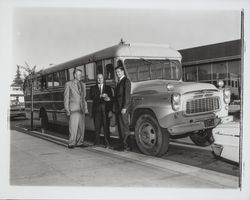
[[[127,77],[117,84],[115,88],[115,111],[120,113],[123,108],[128,109],[131,102],[131,82]]]

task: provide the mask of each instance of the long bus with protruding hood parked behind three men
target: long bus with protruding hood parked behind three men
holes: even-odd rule
[[[169,45],[117,45],[40,71],[33,81],[34,117],[46,116],[48,123],[68,125],[63,104],[64,85],[73,79],[73,70],[83,71],[88,110],[90,87],[96,74],[103,73],[112,88],[117,83],[114,69],[122,62],[131,80],[130,129],[140,151],[161,156],[169,147],[170,138],[189,136],[200,146],[213,142],[212,128],[228,116],[230,90],[208,83],[182,81],[181,55]],[[31,90],[25,89],[27,116],[31,110]],[[41,114],[42,112],[42,114]],[[86,130],[94,130],[93,119],[86,115]]]

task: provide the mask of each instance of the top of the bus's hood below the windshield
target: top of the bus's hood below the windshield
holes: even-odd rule
[[[182,81],[169,81],[169,80],[149,80],[142,82],[132,82],[132,93],[155,93],[166,92],[167,85],[174,86],[173,92],[180,94],[195,92],[200,90],[215,90],[218,89],[209,83],[196,83],[196,82],[182,82]]]

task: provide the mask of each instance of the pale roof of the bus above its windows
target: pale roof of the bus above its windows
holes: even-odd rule
[[[77,67],[83,63],[86,64],[113,57],[172,58],[180,60],[181,54],[172,49],[169,45],[119,43],[86,56],[44,69],[42,74],[48,74],[71,67]]]

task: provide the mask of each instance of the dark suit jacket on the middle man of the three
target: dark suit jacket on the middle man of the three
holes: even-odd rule
[[[102,93],[106,93],[109,96],[110,101],[104,101],[104,99],[100,97],[100,89],[98,87],[98,84],[90,88],[89,97],[91,100],[93,100],[92,115],[95,115],[96,113],[100,112],[101,106],[103,105],[105,106],[105,112],[107,114],[109,111],[112,111],[113,92],[111,90],[111,87],[103,84]]]

